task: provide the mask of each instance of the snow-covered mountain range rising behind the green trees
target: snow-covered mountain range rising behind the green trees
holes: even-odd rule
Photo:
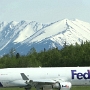
[[[37,51],[90,41],[90,23],[75,20],[59,20],[50,24],[35,21],[0,22],[0,55],[15,48],[27,54],[32,47]]]

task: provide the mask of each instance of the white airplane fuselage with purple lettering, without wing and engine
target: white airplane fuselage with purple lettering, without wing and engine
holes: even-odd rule
[[[42,67],[0,69],[0,86],[26,86],[21,73],[29,80],[51,79],[71,82],[72,85],[90,85],[90,67]]]

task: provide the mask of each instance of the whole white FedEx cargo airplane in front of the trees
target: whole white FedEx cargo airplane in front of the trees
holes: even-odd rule
[[[90,67],[33,67],[0,69],[0,87],[30,90],[70,90],[72,86],[90,85]]]

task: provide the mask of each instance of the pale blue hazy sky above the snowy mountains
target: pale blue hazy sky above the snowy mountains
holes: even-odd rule
[[[90,0],[0,0],[0,21],[48,23],[64,18],[90,22]]]

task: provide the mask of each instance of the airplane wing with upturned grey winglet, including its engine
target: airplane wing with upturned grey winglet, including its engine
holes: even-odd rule
[[[61,88],[64,88],[64,90],[70,90],[71,83],[67,82],[65,77],[60,78],[51,78],[51,79],[32,79],[30,80],[24,73],[21,73],[22,79],[25,80],[25,83],[27,86],[34,86],[34,87],[46,87],[51,86],[51,88],[62,90]]]

